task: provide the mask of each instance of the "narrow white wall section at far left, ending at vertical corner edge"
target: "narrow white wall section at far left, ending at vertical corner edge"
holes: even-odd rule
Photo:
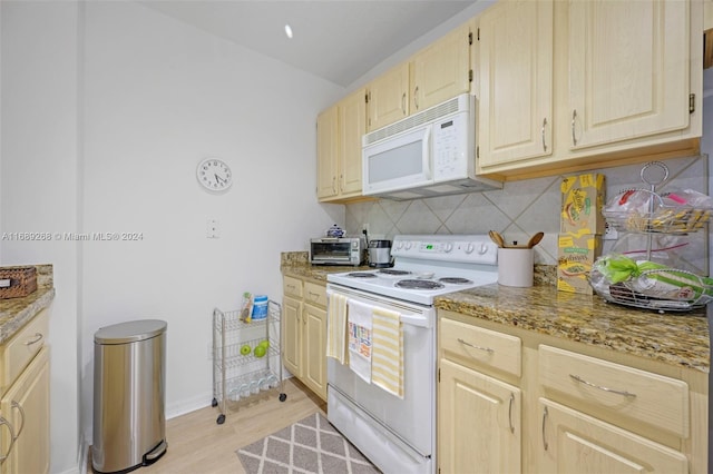
[[[2,1],[0,216],[2,230],[77,227],[78,7]],[[77,465],[78,247],[65,241],[0,243],[3,265],[55,265],[50,317],[51,471]]]

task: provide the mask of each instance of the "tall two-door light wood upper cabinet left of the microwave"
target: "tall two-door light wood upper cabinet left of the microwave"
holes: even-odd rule
[[[360,89],[318,117],[318,198],[361,198],[361,138],[367,132],[367,91]]]

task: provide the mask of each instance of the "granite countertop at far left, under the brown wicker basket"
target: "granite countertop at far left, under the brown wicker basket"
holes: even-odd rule
[[[10,339],[55,299],[52,266],[35,265],[35,267],[37,268],[35,292],[21,298],[0,299],[0,344]]]

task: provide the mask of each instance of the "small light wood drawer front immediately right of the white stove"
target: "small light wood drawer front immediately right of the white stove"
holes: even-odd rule
[[[519,337],[446,318],[441,319],[440,337],[447,358],[473,368],[486,366],[521,375]]]

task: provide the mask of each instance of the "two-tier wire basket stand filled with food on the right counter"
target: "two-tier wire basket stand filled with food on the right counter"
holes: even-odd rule
[[[599,257],[589,275],[589,283],[594,290],[611,303],[633,306],[644,309],[664,312],[687,312],[705,306],[713,300],[713,280],[693,271],[675,266],[655,265],[653,254],[665,250],[670,257],[675,257],[676,249],[682,245],[668,248],[653,249],[654,236],[687,236],[700,230],[706,230],[712,213],[710,198],[705,197],[703,206],[692,206],[683,199],[667,201],[656,187],[668,178],[668,168],[658,161],[646,164],[641,171],[642,181],[648,189],[625,189],[616,196],[613,203],[622,205],[627,200],[639,199],[644,206],[637,209],[605,208],[603,215],[607,223],[619,231],[638,234],[645,237],[645,259],[649,263],[637,267],[638,263],[629,264],[628,268],[614,278],[617,269],[628,264],[624,255]],[[609,206],[607,206],[609,207]],[[633,260],[632,260],[633,261]],[[612,271],[614,270],[614,271]],[[631,270],[631,274],[628,273]]]

